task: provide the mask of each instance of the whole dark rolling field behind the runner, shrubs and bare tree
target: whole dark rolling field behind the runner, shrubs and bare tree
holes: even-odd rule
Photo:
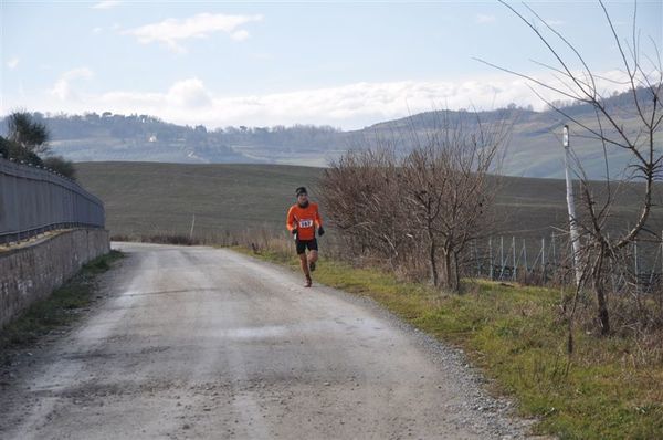
[[[306,186],[315,199],[323,172],[278,165],[155,163],[81,163],[76,169],[81,184],[104,200],[114,235],[188,234],[193,216],[197,237],[282,229],[294,189]],[[535,243],[566,224],[562,180],[505,177],[499,185],[497,233]],[[613,210],[624,224],[634,209],[632,191],[631,186]]]

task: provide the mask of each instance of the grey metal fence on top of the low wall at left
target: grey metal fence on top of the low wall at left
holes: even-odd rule
[[[66,177],[0,158],[0,244],[61,228],[104,228],[104,203]]]

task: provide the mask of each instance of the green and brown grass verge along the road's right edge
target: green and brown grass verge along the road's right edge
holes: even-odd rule
[[[292,253],[265,250],[257,258],[298,270]],[[560,439],[663,438],[661,349],[646,349],[632,337],[601,338],[577,328],[569,356],[559,290],[469,281],[465,294],[446,295],[376,269],[327,259],[318,264],[315,281],[369,296],[423,332],[462,347],[493,379],[493,392],[514,397],[520,415],[539,420],[537,433]]]

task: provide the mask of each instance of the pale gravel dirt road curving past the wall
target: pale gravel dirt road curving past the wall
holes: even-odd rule
[[[80,325],[0,386],[2,439],[515,439],[462,353],[229,250],[114,243]]]

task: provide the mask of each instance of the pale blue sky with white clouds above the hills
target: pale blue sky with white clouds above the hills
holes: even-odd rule
[[[632,42],[633,4],[606,2],[622,43]],[[509,6],[537,21],[523,3]],[[597,1],[527,6],[599,76],[623,78]],[[655,62],[663,1],[639,1],[635,17],[642,59]],[[2,115],[112,112],[208,128],[355,129],[439,108],[545,108],[527,81],[477,59],[555,81],[539,64],[555,65],[552,55],[497,1],[0,0],[0,21]]]

